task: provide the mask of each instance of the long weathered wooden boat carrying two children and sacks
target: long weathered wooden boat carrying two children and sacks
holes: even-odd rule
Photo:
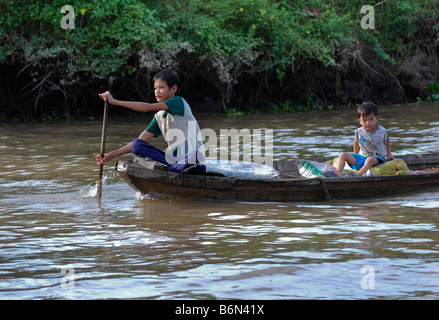
[[[235,179],[168,172],[166,168],[139,157],[119,161],[116,170],[136,191],[153,197],[226,201],[301,202],[376,198],[439,187],[439,153],[403,155],[416,174],[362,177],[303,178],[297,160],[274,161],[280,177]],[[422,170],[419,172],[419,170]],[[425,170],[425,171],[424,171]],[[434,172],[436,171],[436,172]]]

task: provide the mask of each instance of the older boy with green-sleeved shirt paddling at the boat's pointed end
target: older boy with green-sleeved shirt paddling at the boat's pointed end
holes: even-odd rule
[[[96,163],[101,165],[121,155],[133,152],[144,158],[150,158],[168,165],[169,171],[188,171],[192,174],[204,174],[204,147],[198,122],[192,114],[189,104],[176,96],[179,76],[175,71],[162,70],[154,78],[154,92],[157,103],[121,101],[114,99],[110,92],[99,94],[104,101],[140,112],[157,111],[148,127],[139,137],[121,148],[96,155]],[[168,144],[164,152],[149,143],[153,137],[163,135]]]

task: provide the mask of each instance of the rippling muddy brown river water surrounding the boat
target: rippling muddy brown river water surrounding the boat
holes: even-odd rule
[[[151,117],[110,111],[107,150]],[[359,127],[354,110],[196,117],[215,132],[273,129],[274,160],[336,157]],[[439,104],[381,107],[379,124],[396,157],[439,152]],[[99,201],[101,128],[0,124],[1,299],[439,299],[439,188],[316,203],[154,199],[108,163]]]

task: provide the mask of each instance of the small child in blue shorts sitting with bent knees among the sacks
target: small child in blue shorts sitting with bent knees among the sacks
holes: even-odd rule
[[[356,176],[361,176],[373,166],[394,159],[387,130],[378,125],[378,107],[372,102],[362,103],[357,115],[361,127],[355,130],[354,152],[340,153],[334,171],[339,177],[343,176],[346,162],[352,169],[359,170]]]

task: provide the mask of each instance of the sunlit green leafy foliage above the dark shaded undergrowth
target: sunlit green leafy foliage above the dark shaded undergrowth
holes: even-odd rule
[[[185,66],[227,100],[247,74],[282,79],[309,62],[338,71],[352,61],[398,65],[439,32],[436,0],[381,1],[376,30],[360,27],[363,2],[79,0],[75,29],[64,30],[64,0],[2,0],[0,63],[23,65],[35,96]]]

